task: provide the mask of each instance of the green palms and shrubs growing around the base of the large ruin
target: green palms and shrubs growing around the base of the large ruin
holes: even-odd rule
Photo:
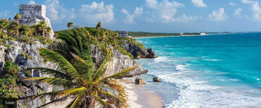
[[[17,21],[12,21],[9,23],[7,19],[0,19],[0,45],[4,45],[5,41],[18,41],[31,43],[33,41],[39,41],[46,44],[50,41],[48,38],[51,32],[51,27],[46,26],[45,21],[39,21],[37,25],[23,25],[19,24],[21,19],[20,14],[16,14],[14,19]]]

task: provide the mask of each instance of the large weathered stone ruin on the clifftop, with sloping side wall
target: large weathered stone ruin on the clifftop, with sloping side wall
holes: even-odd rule
[[[19,20],[20,24],[25,24],[31,26],[33,24],[38,24],[39,21],[44,20],[46,26],[51,27],[50,19],[45,16],[46,7],[41,4],[19,4],[19,13],[21,14],[21,19]],[[13,21],[12,19],[9,21]],[[18,21],[18,20],[17,20]],[[51,27],[52,28],[52,27]],[[50,33],[50,39],[54,39],[54,31]]]

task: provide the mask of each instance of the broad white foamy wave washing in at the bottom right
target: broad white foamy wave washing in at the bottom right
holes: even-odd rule
[[[204,85],[206,81],[197,81],[186,78],[174,78],[158,75],[165,82],[178,87],[177,99],[166,104],[165,108],[172,107],[242,107],[258,106],[261,98],[243,96],[238,93],[220,92],[218,86]]]

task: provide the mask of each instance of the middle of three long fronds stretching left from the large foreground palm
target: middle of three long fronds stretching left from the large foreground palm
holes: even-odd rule
[[[20,79],[22,81],[35,80],[37,82],[46,82],[47,85],[51,86],[62,86],[64,88],[72,88],[73,85],[76,85],[74,82],[60,79],[60,78],[52,78],[52,77],[33,77],[33,78],[23,78]]]

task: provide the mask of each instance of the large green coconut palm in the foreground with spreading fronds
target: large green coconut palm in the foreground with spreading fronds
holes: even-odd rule
[[[111,107],[110,104],[99,97],[105,96],[110,100],[117,101],[118,104],[122,104],[122,101],[116,96],[100,90],[99,87],[108,79],[122,78],[129,73],[133,73],[138,66],[128,67],[109,77],[105,77],[105,73],[108,70],[106,64],[111,60],[112,51],[102,49],[102,53],[94,63],[91,58],[85,31],[85,28],[75,26],[72,30],[59,32],[59,40],[52,41],[45,48],[39,49],[43,57],[48,61],[56,63],[61,68],[61,71],[40,67],[28,68],[26,70],[37,69],[43,74],[50,75],[50,77],[21,79],[45,82],[48,85],[64,87],[65,90],[52,91],[20,99],[56,98],[40,107],[59,106],[68,101],[69,104],[66,107],[70,108]]]

